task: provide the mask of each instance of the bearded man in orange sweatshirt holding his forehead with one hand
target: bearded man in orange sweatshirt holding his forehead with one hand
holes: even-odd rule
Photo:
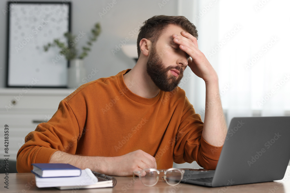
[[[195,26],[183,16],[154,16],[137,46],[133,69],[82,85],[26,137],[19,172],[30,172],[31,163],[70,163],[128,176],[194,160],[215,169],[227,128],[218,76],[198,49]],[[187,65],[205,81],[204,124],[177,87]]]

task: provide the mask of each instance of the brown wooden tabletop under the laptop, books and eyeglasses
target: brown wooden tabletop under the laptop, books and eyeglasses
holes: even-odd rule
[[[82,189],[82,190],[58,190],[56,188],[37,188],[35,177],[32,173],[11,173],[8,175],[8,187],[4,188],[5,174],[0,174],[0,192],[27,193],[27,192],[61,192],[61,193],[82,193],[82,192],[105,192],[105,193],[130,193],[130,192],[265,192],[265,193],[290,193],[290,167],[288,166],[285,177],[279,181],[234,185],[229,187],[207,188],[203,186],[180,183],[177,186],[170,186],[160,180],[155,186],[144,186],[139,180],[133,181],[132,177],[116,177],[117,185],[114,188]],[[138,178],[137,178],[138,179]]]

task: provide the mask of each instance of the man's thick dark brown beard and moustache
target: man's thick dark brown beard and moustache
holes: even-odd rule
[[[179,65],[169,66],[167,68],[164,66],[165,65],[162,63],[162,60],[158,56],[155,46],[153,45],[152,52],[150,53],[146,64],[147,73],[160,90],[165,92],[173,91],[183,77],[183,69]],[[178,77],[175,77],[172,74],[168,76],[168,71],[171,69],[177,69],[180,71]]]

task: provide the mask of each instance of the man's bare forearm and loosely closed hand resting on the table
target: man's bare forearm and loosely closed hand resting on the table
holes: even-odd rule
[[[69,163],[82,170],[89,168],[113,176],[128,176],[132,175],[133,171],[157,168],[155,158],[142,150],[118,157],[80,156],[56,151],[50,157],[49,163]]]

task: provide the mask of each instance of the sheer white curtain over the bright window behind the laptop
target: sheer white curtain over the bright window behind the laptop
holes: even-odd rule
[[[218,73],[228,124],[237,116],[290,115],[290,1],[180,0],[179,5],[179,14],[197,26],[199,49]],[[203,118],[204,81],[194,76],[184,83]]]

